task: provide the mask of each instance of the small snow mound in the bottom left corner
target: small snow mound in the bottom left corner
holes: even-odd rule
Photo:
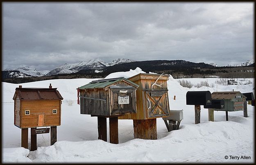
[[[24,147],[3,148],[3,162],[8,163],[30,163],[32,162],[27,155],[29,150]]]

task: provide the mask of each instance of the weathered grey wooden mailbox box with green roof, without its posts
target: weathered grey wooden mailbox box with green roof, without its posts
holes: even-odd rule
[[[136,113],[137,88],[137,84],[123,77],[92,81],[77,88],[80,112],[107,117]]]

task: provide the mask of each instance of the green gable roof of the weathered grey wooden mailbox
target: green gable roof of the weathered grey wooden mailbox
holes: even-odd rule
[[[92,81],[91,83],[88,83],[88,84],[82,86],[82,87],[79,87],[79,89],[104,88],[104,87],[107,87],[111,84],[118,83],[119,81],[122,81],[122,80],[124,80],[125,82],[129,83],[130,85],[132,85],[136,88],[139,87],[139,85],[131,82],[130,80],[128,80],[124,77],[119,77],[119,78],[109,78],[109,79],[95,80],[95,81]]]

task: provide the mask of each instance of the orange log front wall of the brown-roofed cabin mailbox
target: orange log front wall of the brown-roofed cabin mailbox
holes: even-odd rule
[[[61,125],[61,100],[31,100],[21,103],[21,128],[38,127],[39,115],[44,115],[42,127]],[[53,114],[52,109],[57,109],[57,114]],[[30,111],[29,115],[25,115],[26,110]]]

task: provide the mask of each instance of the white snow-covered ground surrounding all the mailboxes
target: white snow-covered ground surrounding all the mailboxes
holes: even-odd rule
[[[141,71],[110,74],[106,78],[129,78]],[[144,72],[145,73],[145,72]],[[77,87],[97,79],[58,79],[32,83],[2,83],[2,163],[254,163],[254,107],[247,105],[248,118],[243,111],[215,111],[215,122],[208,121],[208,109],[201,106],[201,123],[194,124],[194,106],[186,105],[187,91],[240,91],[254,92],[254,79],[249,85],[216,85],[214,87],[182,87],[181,79],[168,80],[171,110],[183,109],[184,120],[180,129],[168,132],[162,118],[157,118],[157,140],[134,139],[132,120],[118,120],[119,143],[97,140],[97,117],[81,115],[77,105]],[[207,81],[214,84],[218,78],[186,78],[193,84]],[[38,149],[29,152],[20,147],[21,130],[14,126],[15,88],[57,87],[62,102],[61,126],[57,127],[57,143],[50,146],[50,134],[38,134]],[[174,100],[174,95],[176,100]],[[255,95],[254,95],[255,96]],[[6,103],[11,102],[11,103]],[[107,119],[107,128],[108,128]],[[108,128],[109,129],[109,128]],[[30,130],[29,130],[30,138]],[[30,139],[29,139],[30,141]],[[29,143],[30,147],[30,143]],[[227,159],[224,157],[228,156]],[[233,159],[232,159],[232,156]],[[235,158],[235,156],[237,156]],[[245,159],[248,156],[248,159]],[[244,159],[243,159],[244,158]]]

